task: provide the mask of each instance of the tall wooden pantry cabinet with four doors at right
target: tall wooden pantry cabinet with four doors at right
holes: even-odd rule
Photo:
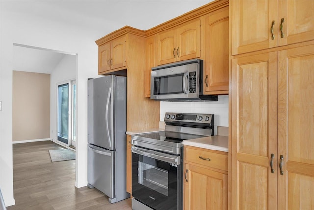
[[[314,1],[229,3],[231,209],[314,209]]]

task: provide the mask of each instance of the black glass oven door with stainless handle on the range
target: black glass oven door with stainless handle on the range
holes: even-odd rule
[[[132,196],[156,210],[181,210],[180,156],[132,146]]]

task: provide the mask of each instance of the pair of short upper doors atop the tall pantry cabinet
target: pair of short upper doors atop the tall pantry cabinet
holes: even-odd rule
[[[232,55],[314,39],[313,0],[235,0]]]

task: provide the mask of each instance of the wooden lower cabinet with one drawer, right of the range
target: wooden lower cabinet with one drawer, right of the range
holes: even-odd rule
[[[227,210],[227,170],[228,153],[184,146],[184,210]]]

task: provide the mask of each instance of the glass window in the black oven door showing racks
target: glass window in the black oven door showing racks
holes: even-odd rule
[[[138,183],[168,196],[168,171],[138,162]]]

